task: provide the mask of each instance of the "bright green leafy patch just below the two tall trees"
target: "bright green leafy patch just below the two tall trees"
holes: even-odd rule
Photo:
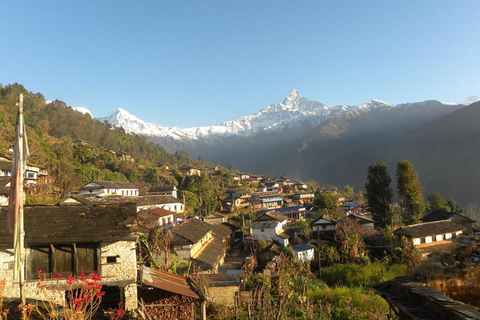
[[[322,269],[320,279],[329,286],[371,287],[407,274],[406,264],[336,264]]]

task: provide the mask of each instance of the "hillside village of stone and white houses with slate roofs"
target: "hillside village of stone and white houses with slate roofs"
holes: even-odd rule
[[[125,152],[112,153],[118,161],[135,161]],[[161,174],[173,175],[170,165],[159,167]],[[5,209],[11,168],[12,157],[2,155],[0,203]],[[221,170],[227,169],[177,168],[183,179],[215,177]],[[61,301],[72,290],[65,288],[69,276],[95,273],[102,279],[102,310],[113,310],[120,302],[129,317],[138,319],[216,319],[220,318],[218,310],[230,310],[231,317],[241,318],[242,309],[250,310],[258,303],[257,293],[246,285],[247,277],[280,274],[285,259],[322,272],[322,263],[385,259],[394,256],[395,250],[405,253],[400,259],[407,264],[413,263],[406,260],[415,260],[414,254],[419,252],[418,265],[422,259],[467,246],[467,265],[461,266],[465,262],[457,260],[441,266],[478,270],[478,221],[460,213],[427,212],[420,223],[392,229],[393,240],[386,241],[364,206],[365,198],[348,187],[341,190],[236,170],[229,174],[231,185],[208,214],[189,208],[182,196],[184,190],[176,185],[142,189],[120,181],[91,181],[56,205],[25,205],[25,282],[19,286],[18,280],[7,280],[5,302],[20,296],[27,301]],[[27,194],[51,183],[55,182],[45,168],[27,163]],[[322,197],[333,199],[335,209],[322,205]],[[13,237],[5,229],[5,211],[2,209],[0,224],[0,279],[13,279]],[[351,236],[359,236],[358,243],[363,245],[352,244]],[[337,258],[329,255],[329,250]],[[39,276],[46,283],[62,284],[62,289],[52,298],[51,293],[39,289]],[[439,290],[421,292],[415,288],[422,285],[411,280],[389,281],[373,290],[400,319],[417,319],[418,310],[439,319],[436,315],[447,309],[451,313],[448,319],[480,319],[475,307],[447,298]],[[392,293],[392,287],[398,285],[408,288],[402,297],[397,291]],[[446,302],[433,306],[433,299]],[[249,311],[246,318],[251,317]]]

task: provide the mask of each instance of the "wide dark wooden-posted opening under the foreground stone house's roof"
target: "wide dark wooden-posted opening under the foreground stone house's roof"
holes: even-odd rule
[[[97,245],[90,243],[32,246],[28,257],[27,279],[35,280],[37,270],[49,275],[96,272]]]

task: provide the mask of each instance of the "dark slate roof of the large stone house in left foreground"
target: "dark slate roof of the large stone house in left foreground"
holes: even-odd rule
[[[0,245],[13,245],[0,211]],[[133,204],[117,206],[25,206],[25,244],[104,242],[132,239],[137,216]]]

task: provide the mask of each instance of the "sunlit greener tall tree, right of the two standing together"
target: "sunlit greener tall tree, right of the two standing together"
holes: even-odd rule
[[[397,165],[397,192],[403,223],[418,223],[425,211],[425,203],[418,173],[407,160],[399,161]]]

